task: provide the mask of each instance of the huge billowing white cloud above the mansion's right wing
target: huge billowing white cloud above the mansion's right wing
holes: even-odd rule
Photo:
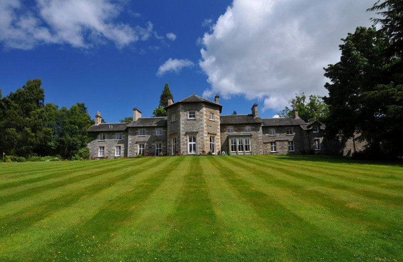
[[[373,2],[234,0],[203,37],[204,96],[257,98],[264,110],[295,93],[325,95],[323,67],[340,59],[342,37],[370,25]]]

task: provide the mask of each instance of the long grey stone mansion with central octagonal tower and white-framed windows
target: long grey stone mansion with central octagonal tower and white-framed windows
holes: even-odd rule
[[[306,123],[294,111],[292,118],[260,118],[257,104],[251,114],[221,115],[219,96],[210,101],[191,95],[168,100],[166,117],[142,117],[133,108],[129,123],[101,123],[88,130],[91,159],[173,155],[263,155],[315,152],[334,154],[334,143],[323,137],[324,126]]]

